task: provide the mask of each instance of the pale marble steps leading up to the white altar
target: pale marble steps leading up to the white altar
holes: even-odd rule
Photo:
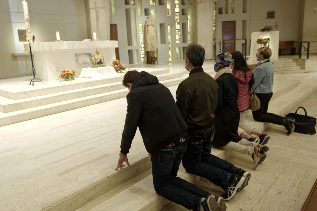
[[[183,73],[170,74],[169,69],[149,72],[156,75],[165,86],[178,85],[184,80]],[[123,98],[128,93],[122,86],[123,75],[103,80],[86,79],[71,84],[64,81],[60,86],[15,93],[0,90],[0,126]]]

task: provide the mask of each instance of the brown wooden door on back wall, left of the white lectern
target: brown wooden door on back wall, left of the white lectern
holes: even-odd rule
[[[236,21],[223,21],[222,22],[222,40],[224,41],[223,52],[229,51],[230,53],[236,50]],[[227,40],[227,41],[225,41]]]

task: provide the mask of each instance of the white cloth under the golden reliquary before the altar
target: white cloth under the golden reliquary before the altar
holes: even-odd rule
[[[86,67],[82,68],[80,78],[91,78],[99,80],[105,78],[116,77],[118,74],[113,67]]]

